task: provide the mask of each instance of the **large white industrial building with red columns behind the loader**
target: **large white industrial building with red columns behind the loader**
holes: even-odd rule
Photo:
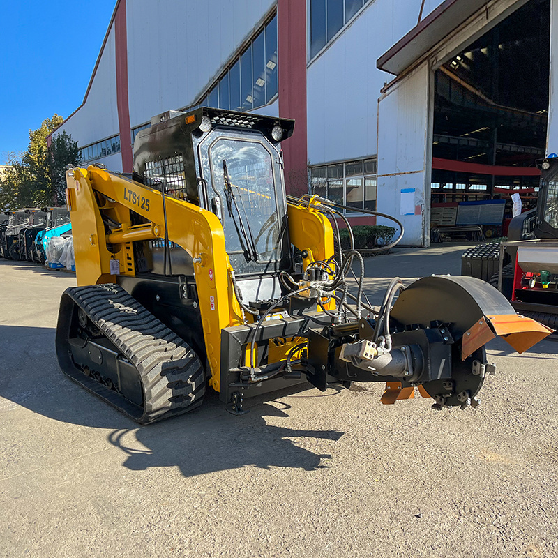
[[[119,0],[84,101],[59,130],[84,163],[130,172],[137,131],[167,110],[294,118],[287,190],[344,202],[354,224],[373,222],[362,209],[389,213],[405,225],[403,243],[428,246],[458,204],[480,211],[512,192],[532,203],[535,162],[558,151],[557,8]]]

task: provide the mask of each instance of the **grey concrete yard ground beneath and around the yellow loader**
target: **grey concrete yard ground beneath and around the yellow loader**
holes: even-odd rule
[[[366,259],[372,299],[458,274],[464,248]],[[558,343],[492,343],[465,412],[356,384],[138,428],[58,368],[70,285],[0,259],[1,557],[558,556]]]

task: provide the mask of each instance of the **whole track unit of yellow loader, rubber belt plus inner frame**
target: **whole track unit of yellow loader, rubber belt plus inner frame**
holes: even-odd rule
[[[84,330],[91,329],[97,335],[89,339]],[[137,384],[139,379],[142,405],[126,398],[123,384],[114,382],[111,387],[112,382],[103,382],[103,370],[87,375],[89,366],[75,355],[88,352],[88,347],[98,352],[99,344],[92,341],[110,346],[118,362],[127,365],[128,375],[130,370],[137,375],[132,381]],[[189,412],[202,404],[204,368],[195,352],[119,285],[66,289],[60,303],[56,354],[63,372],[74,382],[139,423]]]

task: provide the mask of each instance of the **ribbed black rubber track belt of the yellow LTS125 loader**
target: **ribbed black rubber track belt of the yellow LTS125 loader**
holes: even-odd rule
[[[186,413],[202,404],[204,369],[193,349],[122,287],[70,287],[62,296],[82,308],[103,335],[135,365],[143,386],[144,408],[140,411],[137,405],[87,377],[81,369],[64,370],[62,366],[63,372],[75,382],[141,424]]]

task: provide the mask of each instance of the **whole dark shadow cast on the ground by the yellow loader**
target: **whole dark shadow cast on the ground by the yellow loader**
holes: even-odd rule
[[[53,328],[0,325],[0,420],[8,420],[10,411],[20,406],[68,425],[110,430],[107,438],[126,455],[123,466],[128,469],[179,467],[184,476],[248,465],[313,471],[324,467],[322,460],[331,456],[303,448],[293,439],[337,441],[344,434],[268,424],[265,417],[274,423],[281,418],[288,421],[290,406],[264,397],[247,400],[248,414],[232,416],[211,391],[204,405],[190,414],[138,427],[63,375],[56,360],[55,333]],[[330,398],[340,393],[306,389],[294,386],[273,396],[288,398],[304,391],[304,397]]]

